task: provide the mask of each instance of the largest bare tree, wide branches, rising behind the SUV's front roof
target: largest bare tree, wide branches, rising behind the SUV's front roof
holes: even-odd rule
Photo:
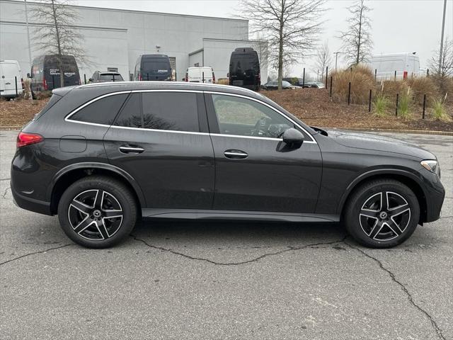
[[[283,67],[313,50],[321,32],[326,0],[242,0],[239,18],[250,19],[251,33],[263,33],[269,42],[272,66],[282,89]]]

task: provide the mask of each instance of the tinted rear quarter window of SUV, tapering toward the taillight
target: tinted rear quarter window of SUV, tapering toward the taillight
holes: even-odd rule
[[[86,123],[110,125],[113,123],[126,98],[127,94],[115,94],[98,99],[77,111],[70,119]]]

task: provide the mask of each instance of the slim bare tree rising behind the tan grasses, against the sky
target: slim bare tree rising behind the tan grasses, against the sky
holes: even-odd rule
[[[343,51],[345,60],[350,64],[360,64],[366,62],[371,55],[373,41],[371,38],[371,21],[368,13],[372,11],[365,5],[365,0],[357,2],[348,7],[351,16],[348,18],[348,29],[340,32],[340,38],[343,40]]]

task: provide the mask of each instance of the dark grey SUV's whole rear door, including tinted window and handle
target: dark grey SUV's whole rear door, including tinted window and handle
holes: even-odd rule
[[[211,209],[214,152],[207,132],[201,92],[133,91],[104,145],[110,163],[141,186],[142,208]]]

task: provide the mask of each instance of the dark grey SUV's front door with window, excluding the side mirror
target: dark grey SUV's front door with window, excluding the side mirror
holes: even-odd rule
[[[316,141],[272,106],[251,98],[205,94],[216,162],[214,209],[313,213],[321,181]],[[299,149],[282,133],[304,133]]]

